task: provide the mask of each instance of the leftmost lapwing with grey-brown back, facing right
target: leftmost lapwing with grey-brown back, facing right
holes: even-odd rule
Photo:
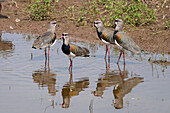
[[[34,40],[32,48],[34,49],[43,49],[45,48],[45,59],[47,59],[46,48],[48,48],[48,59],[50,53],[50,46],[53,46],[56,42],[56,33],[55,33],[56,21],[52,21],[48,23],[47,32],[38,36],[37,39]]]

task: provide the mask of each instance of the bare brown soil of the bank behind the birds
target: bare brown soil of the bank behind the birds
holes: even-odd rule
[[[103,44],[98,39],[95,28],[91,27],[90,24],[77,26],[73,21],[63,15],[64,10],[66,10],[68,6],[80,6],[83,5],[84,1],[60,0],[58,2],[56,5],[58,13],[54,15],[54,20],[56,20],[59,24],[59,27],[56,28],[57,36],[60,37],[63,32],[68,32],[72,37],[72,41]],[[167,1],[165,4],[166,7],[161,9],[160,7],[162,2],[159,2],[159,0],[149,1],[153,2],[152,7],[155,8],[158,20],[149,26],[132,27],[125,25],[125,30],[143,50],[170,54],[170,30],[167,29],[165,25],[165,21],[170,19],[170,2]],[[0,31],[35,35],[39,35],[46,31],[48,20],[30,20],[26,11],[23,10],[23,8],[26,7],[26,4],[27,3],[24,1],[17,1],[18,7],[16,7],[15,5],[11,5],[10,2],[2,3],[3,7],[0,13]],[[162,11],[164,13],[162,13]],[[7,16],[8,18],[3,18],[3,16]]]

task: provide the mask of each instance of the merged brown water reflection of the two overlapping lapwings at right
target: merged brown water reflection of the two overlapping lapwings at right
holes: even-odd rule
[[[104,94],[104,90],[107,87],[114,86],[113,95],[114,101],[113,105],[115,109],[122,109],[123,108],[123,97],[131,92],[131,90],[139,83],[144,82],[143,77],[129,77],[128,71],[125,70],[125,65],[123,66],[124,69],[121,71],[119,65],[117,65],[118,70],[110,70],[110,63],[106,63],[106,72],[100,75],[97,81],[96,91],[92,93],[94,96],[102,97]]]

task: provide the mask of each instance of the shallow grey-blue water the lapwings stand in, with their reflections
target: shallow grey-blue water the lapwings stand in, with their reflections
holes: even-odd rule
[[[0,113],[168,113],[170,67],[126,55],[116,64],[118,51],[105,46],[76,43],[90,49],[91,57],[69,60],[58,41],[50,51],[32,49],[34,38],[2,33],[0,38]],[[161,56],[161,55],[158,55]],[[169,57],[166,55],[166,57]]]

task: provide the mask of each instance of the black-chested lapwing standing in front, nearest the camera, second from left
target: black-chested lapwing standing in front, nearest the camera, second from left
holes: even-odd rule
[[[70,44],[70,38],[68,36],[68,33],[63,33],[61,39],[63,39],[62,51],[69,57],[70,59],[69,70],[70,69],[72,70],[73,67],[72,58],[76,56],[87,57],[89,56],[90,52],[85,47],[80,47],[77,45]]]

